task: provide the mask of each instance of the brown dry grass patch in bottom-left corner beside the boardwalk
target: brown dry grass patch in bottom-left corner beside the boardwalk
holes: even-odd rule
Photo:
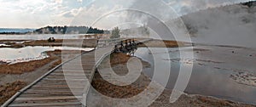
[[[0,104],[10,99],[22,87],[26,86],[26,82],[16,81],[0,86]]]

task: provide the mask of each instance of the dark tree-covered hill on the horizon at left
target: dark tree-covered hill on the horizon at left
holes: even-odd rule
[[[102,34],[109,31],[88,26],[46,26],[33,31],[35,34]]]

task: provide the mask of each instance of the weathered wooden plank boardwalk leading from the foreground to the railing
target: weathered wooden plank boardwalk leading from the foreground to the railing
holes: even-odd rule
[[[143,41],[143,42],[146,42]],[[96,66],[114,50],[113,46],[79,54],[49,70],[21,89],[2,106],[84,106]]]

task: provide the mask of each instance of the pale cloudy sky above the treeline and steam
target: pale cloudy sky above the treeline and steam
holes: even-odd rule
[[[150,0],[138,1],[140,0],[0,0],[0,27],[38,28],[46,25],[92,25],[103,14],[114,10],[133,6],[154,7],[154,3],[150,3]],[[182,15],[199,9],[246,1],[248,0],[163,0],[160,2],[166,3],[178,15]],[[163,13],[168,14],[168,12]],[[108,25],[118,20],[111,15],[108,15],[108,18],[113,20],[96,24],[96,27],[108,28]],[[125,18],[125,15],[120,18]]]

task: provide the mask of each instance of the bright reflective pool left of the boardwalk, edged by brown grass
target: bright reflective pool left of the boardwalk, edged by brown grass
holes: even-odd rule
[[[72,47],[25,47],[25,48],[0,48],[0,61],[9,64],[18,62],[26,62],[37,59],[45,59],[48,57],[45,51],[60,50],[84,50],[90,51],[93,48],[72,48]]]

